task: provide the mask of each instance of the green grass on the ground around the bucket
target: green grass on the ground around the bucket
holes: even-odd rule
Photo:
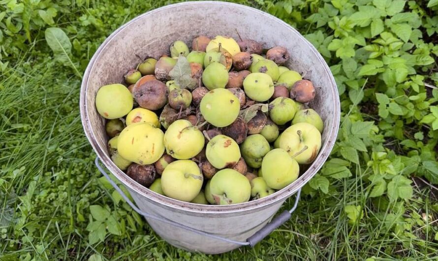
[[[6,10],[5,2],[0,2],[0,14]],[[72,59],[82,72],[109,33],[138,14],[169,2],[60,2],[63,9],[52,26],[63,28],[72,42],[79,40],[80,50],[72,51]],[[299,20],[297,13],[285,13],[288,1],[277,5],[240,2],[268,10],[303,34],[321,31],[314,24]],[[294,3],[294,10],[301,10],[303,18],[314,12],[314,6],[324,5],[319,1],[295,2],[298,4]],[[420,7],[426,10],[425,16],[436,17],[436,9],[427,9],[426,4]],[[12,15],[11,7],[8,8],[6,17],[10,15],[12,21],[21,21],[21,16]],[[407,12],[414,10],[405,8]],[[102,182],[79,116],[81,79],[72,68],[54,61],[44,40],[44,30],[49,26],[31,24],[29,42],[22,31],[7,34],[5,19],[0,20],[4,34],[0,40],[3,48],[0,61],[3,65],[8,63],[0,74],[0,260],[438,260],[438,191],[425,183],[434,183],[434,176],[423,174],[420,168],[404,174],[414,181],[411,197],[390,201],[386,194],[370,196],[374,184],[369,177],[375,173],[372,164],[383,164],[382,160],[373,160],[372,152],[384,150],[389,162],[396,164],[398,156],[393,151],[413,157],[416,155],[413,150],[424,153],[429,146],[430,157],[437,159],[434,152],[437,134],[431,127],[416,120],[393,118],[401,121],[402,127],[407,126],[401,138],[378,123],[383,120],[376,111],[365,110],[377,106],[373,97],[375,92],[383,92],[385,85],[381,79],[365,76],[368,82],[360,83],[366,87],[365,98],[358,104],[351,101],[349,86],[346,87],[349,95],[341,96],[343,122],[349,118],[376,121],[378,125],[375,133],[370,134],[372,139],[365,140],[368,152],[359,152],[359,164],[342,154],[346,141],[342,135],[339,137],[332,158],[348,160],[351,175],[330,178],[327,187],[306,186],[291,220],[254,248],[242,247],[216,256],[194,254],[165,243]],[[426,22],[423,23],[426,28]],[[327,26],[322,27],[322,32],[326,36],[334,33]],[[437,45],[436,36],[423,37],[431,50]],[[434,87],[433,75],[438,65],[437,57],[433,58],[431,65],[415,68]],[[364,63],[360,55],[355,60]],[[329,65],[343,63],[335,57],[335,52],[327,61]],[[357,76],[358,81],[364,79]],[[428,99],[436,105],[433,88],[428,88],[422,92],[429,93]],[[425,146],[407,149],[402,141],[417,131],[423,131],[427,137],[423,139]],[[324,171],[320,173],[323,176],[327,176]],[[286,201],[284,208],[290,208],[293,201],[294,198]],[[120,235],[106,233],[103,241],[90,244],[87,230],[93,221],[90,205],[106,207],[116,218]],[[357,222],[352,222],[345,211],[351,205],[361,209],[356,213]]]

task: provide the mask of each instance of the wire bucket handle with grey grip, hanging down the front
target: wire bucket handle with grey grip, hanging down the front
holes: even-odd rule
[[[263,238],[265,238],[267,235],[269,235],[272,231],[274,231],[276,228],[280,227],[281,225],[283,225],[287,220],[289,220],[289,218],[291,217],[292,212],[295,211],[295,209],[297,208],[298,205],[298,201],[300,200],[300,194],[301,194],[301,189],[299,189],[297,191],[297,196],[295,198],[295,203],[293,204],[293,207],[290,210],[284,210],[280,215],[278,215],[277,217],[275,217],[274,219],[271,220],[271,222],[269,222],[268,224],[266,224],[263,228],[261,228],[260,230],[258,230],[257,232],[255,232],[252,236],[250,236],[247,241],[236,241],[236,240],[232,240],[232,239],[228,239],[225,237],[221,237],[221,236],[217,236],[214,234],[210,234],[207,233],[205,231],[201,231],[195,228],[190,228],[188,226],[185,226],[183,224],[165,219],[165,218],[161,218],[161,217],[157,217],[154,215],[151,215],[147,212],[143,212],[141,211],[134,203],[132,203],[131,200],[129,200],[129,198],[125,195],[125,193],[119,188],[119,186],[117,186],[117,184],[109,177],[109,175],[105,172],[105,170],[102,168],[102,166],[99,163],[99,157],[96,157],[94,163],[97,167],[97,169],[100,171],[100,173],[102,173],[103,176],[105,176],[105,178],[108,180],[108,182],[114,187],[114,189],[116,189],[116,191],[125,199],[126,203],[128,203],[129,206],[132,207],[132,209],[135,210],[135,212],[137,212],[140,215],[143,215],[145,217],[148,217],[150,219],[154,219],[163,223],[166,223],[168,225],[172,225],[178,228],[183,228],[186,229],[188,231],[200,234],[200,235],[205,235],[211,238],[215,238],[215,239],[219,239],[221,241],[225,241],[228,243],[232,243],[232,244],[236,244],[236,245],[240,245],[240,246],[255,246],[255,244],[257,244],[258,242],[260,242],[261,240],[263,240]]]

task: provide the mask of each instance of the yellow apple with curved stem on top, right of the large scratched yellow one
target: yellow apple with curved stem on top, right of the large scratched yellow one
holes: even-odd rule
[[[201,152],[205,139],[188,120],[177,120],[167,128],[163,142],[167,154],[178,160],[187,160]]]

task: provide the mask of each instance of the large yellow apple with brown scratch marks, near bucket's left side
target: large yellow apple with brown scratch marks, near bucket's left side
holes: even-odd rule
[[[149,123],[133,123],[119,135],[118,151],[140,165],[155,163],[164,153],[163,131]]]

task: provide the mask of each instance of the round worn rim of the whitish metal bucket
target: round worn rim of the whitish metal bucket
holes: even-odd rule
[[[94,132],[89,120],[89,115],[87,112],[87,103],[86,103],[86,93],[88,89],[88,82],[90,78],[90,72],[92,68],[95,65],[96,60],[102,53],[102,51],[105,49],[105,47],[111,42],[111,40],[120,32],[125,30],[129,25],[135,23],[137,20],[140,20],[144,17],[147,17],[149,15],[152,15],[154,13],[169,9],[169,8],[176,8],[179,6],[185,6],[185,5],[204,5],[204,4],[215,4],[215,5],[222,5],[224,7],[232,7],[232,8],[241,8],[246,9],[251,12],[255,12],[259,15],[262,15],[265,17],[265,19],[270,19],[278,23],[279,26],[286,27],[288,30],[290,30],[290,33],[296,34],[299,38],[301,38],[304,42],[303,44],[306,45],[307,48],[310,48],[310,50],[315,54],[316,58],[318,59],[318,62],[322,64],[323,69],[325,73],[329,76],[329,91],[332,92],[333,97],[335,98],[333,100],[333,107],[334,107],[334,113],[333,113],[333,128],[331,128],[327,136],[327,141],[323,146],[321,147],[318,156],[316,157],[315,161],[308,167],[308,169],[298,177],[294,182],[286,186],[285,188],[275,192],[274,194],[270,196],[266,196],[260,199],[251,200],[243,203],[238,204],[231,204],[231,205],[203,205],[203,204],[196,204],[196,203],[190,203],[185,201],[180,201],[177,199],[173,199],[167,196],[163,196],[160,194],[157,194],[151,190],[149,190],[146,187],[143,187],[142,185],[138,184],[134,180],[132,180],[129,176],[125,174],[122,170],[120,170],[110,159],[110,157],[106,154],[106,151],[104,148],[102,148],[94,138]],[[295,30],[293,27],[288,25],[287,23],[283,22],[281,19],[268,14],[266,12],[263,12],[261,10],[258,10],[256,8],[237,4],[237,3],[230,3],[230,2],[220,2],[220,1],[188,1],[188,2],[181,2],[181,3],[175,3],[170,4],[166,6],[162,6],[153,10],[150,10],[146,13],[143,13],[129,22],[125,23],[121,27],[119,27],[116,31],[111,33],[99,46],[99,48],[94,53],[92,59],[90,60],[89,64],[87,65],[87,68],[84,72],[84,77],[82,79],[81,84],[81,90],[80,90],[80,113],[81,113],[81,121],[83,125],[84,132],[92,145],[94,152],[97,154],[97,156],[100,158],[101,162],[105,165],[105,167],[122,183],[124,184],[129,190],[133,190],[139,195],[146,197],[149,200],[152,200],[158,204],[161,204],[163,206],[166,206],[168,208],[172,208],[174,210],[180,210],[185,212],[196,212],[196,213],[205,213],[205,214],[219,214],[219,213],[236,213],[236,212],[242,212],[242,211],[248,211],[253,210],[257,208],[263,208],[267,205],[277,203],[279,201],[284,201],[288,197],[292,196],[297,192],[299,189],[301,189],[305,184],[307,184],[311,178],[316,174],[316,172],[322,167],[322,165],[327,160],[328,156],[330,155],[330,152],[332,151],[338,130],[339,130],[339,122],[341,119],[341,101],[339,98],[339,93],[337,89],[337,85],[335,82],[335,79],[333,77],[333,74],[330,71],[329,66],[325,62],[325,60],[322,58],[321,54],[316,50],[316,48],[303,36],[301,33],[299,33],[297,30]],[[338,124],[336,124],[338,123]]]

